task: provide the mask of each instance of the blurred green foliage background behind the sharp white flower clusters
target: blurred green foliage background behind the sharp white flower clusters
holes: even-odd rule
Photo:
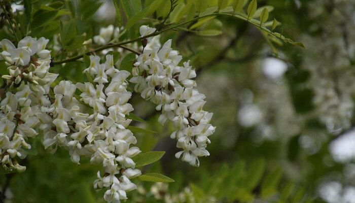
[[[307,48],[270,47],[254,26],[226,17],[204,25],[222,29],[217,37],[184,30],[160,36],[162,44],[172,39],[173,49],[195,67],[197,89],[206,95],[204,107],[214,113],[217,129],[207,147],[211,155],[192,167],[174,157],[172,126],[161,126],[154,106],[133,95],[134,113],[146,120],[133,124],[157,132],[137,134],[137,145],[166,151],[143,171],[175,182],[139,182],[127,202],[355,202],[355,1],[259,5],[273,6],[269,19],[282,22],[278,31]],[[82,23],[89,37],[115,25],[114,3],[100,2]],[[59,72],[80,81],[83,68]],[[0,176],[8,202],[104,202],[103,191],[92,187],[100,168],[88,160],[71,162],[63,149],[50,154],[40,141],[34,148],[25,173]]]

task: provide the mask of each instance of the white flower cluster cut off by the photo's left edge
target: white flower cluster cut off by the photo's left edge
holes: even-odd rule
[[[50,84],[57,74],[48,73],[51,55],[46,49],[49,40],[25,37],[17,48],[9,41],[0,42],[2,59],[10,75],[4,75],[0,89],[0,163],[9,170],[23,172],[26,167],[16,157],[24,159],[31,146],[28,138],[44,128],[43,107],[50,106]],[[35,55],[37,54],[37,56]]]

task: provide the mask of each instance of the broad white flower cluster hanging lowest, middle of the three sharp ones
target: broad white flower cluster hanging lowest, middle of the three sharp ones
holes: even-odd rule
[[[101,177],[97,172],[94,188],[109,188],[104,199],[120,202],[127,199],[126,192],[136,189],[129,179],[141,174],[131,159],[140,150],[130,147],[137,141],[126,129],[131,122],[126,115],[133,111],[127,103],[131,97],[126,90],[129,73],[115,69],[112,55],[107,55],[103,64],[99,56],[90,56],[90,66],[84,72],[94,78],[94,84],[61,81],[54,87],[55,101],[47,109],[54,126],[44,132],[44,145],[68,148],[72,161],[78,164],[81,156],[101,164],[105,173]],[[91,115],[82,113],[74,96],[77,88],[82,92],[80,100],[92,109]]]

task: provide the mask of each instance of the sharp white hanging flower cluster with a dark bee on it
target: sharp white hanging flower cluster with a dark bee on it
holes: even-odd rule
[[[149,29],[144,27],[140,31],[145,36]],[[208,136],[216,127],[209,124],[213,114],[202,110],[205,95],[195,89],[196,82],[192,80],[196,77],[195,70],[189,62],[179,66],[181,60],[179,52],[171,49],[171,40],[161,48],[145,49],[134,63],[130,82],[136,84],[134,90],[143,98],[157,105],[157,111],[162,111],[161,124],[168,119],[173,122],[176,130],[170,137],[176,139],[176,147],[182,149],[175,157],[199,166],[198,157],[209,155]]]

